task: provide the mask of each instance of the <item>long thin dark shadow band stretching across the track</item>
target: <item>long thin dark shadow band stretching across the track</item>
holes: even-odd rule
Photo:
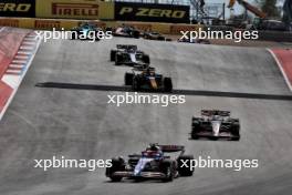
[[[58,83],[44,82],[36,83],[36,88],[67,89],[67,90],[94,90],[94,91],[117,91],[134,92],[131,86],[125,85],[102,85],[102,84],[76,84],[76,83]],[[145,92],[145,91],[143,91]],[[221,92],[221,91],[204,91],[204,90],[179,90],[175,89],[170,93],[146,91],[147,93],[158,94],[177,94],[177,95],[195,95],[195,96],[220,96],[237,99],[260,99],[260,100],[281,100],[292,101],[292,95],[284,94],[263,94],[263,93],[240,93],[240,92]]]

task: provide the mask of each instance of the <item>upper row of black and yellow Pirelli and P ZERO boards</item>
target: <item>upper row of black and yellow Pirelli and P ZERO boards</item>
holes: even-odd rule
[[[189,23],[189,6],[100,0],[1,0],[0,17]]]

